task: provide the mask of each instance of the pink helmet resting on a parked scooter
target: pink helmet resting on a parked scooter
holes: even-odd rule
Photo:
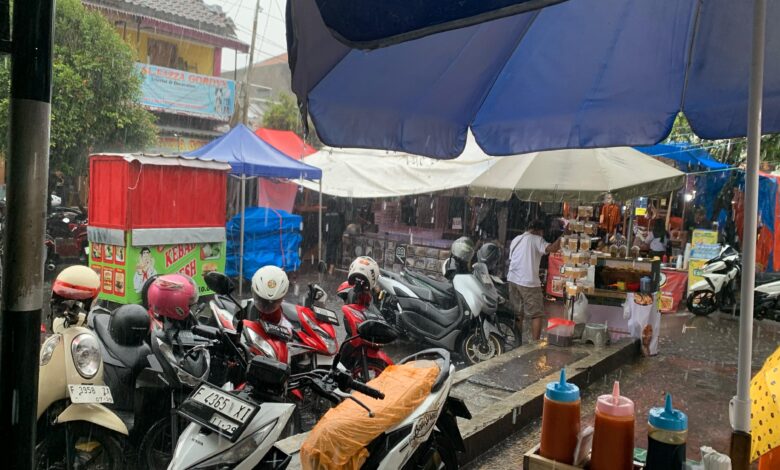
[[[195,281],[184,274],[164,274],[149,286],[149,310],[161,317],[184,320],[198,301]]]

